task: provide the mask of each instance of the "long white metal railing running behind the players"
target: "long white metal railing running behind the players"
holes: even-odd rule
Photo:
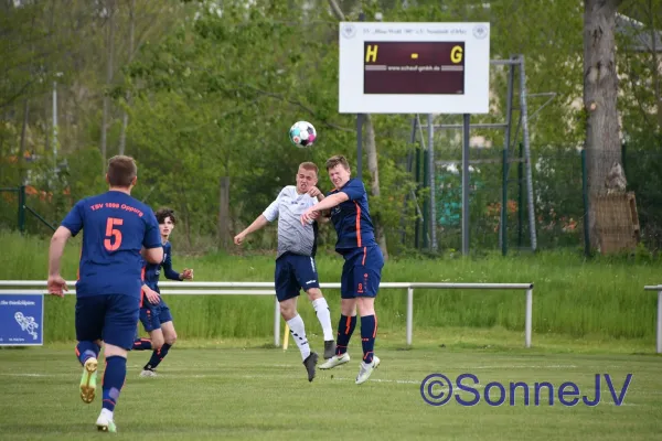
[[[75,281],[71,281],[67,294],[75,294]],[[44,294],[45,280],[0,280],[2,294]],[[21,287],[19,289],[19,287]],[[26,289],[26,287],[32,289]],[[161,294],[186,295],[276,295],[274,282],[159,282]],[[163,289],[178,288],[178,289]],[[231,288],[231,289],[222,289]],[[250,288],[250,289],[249,289]],[[256,290],[254,288],[268,288]],[[321,289],[340,289],[340,283],[320,283]],[[407,345],[412,344],[414,330],[414,289],[477,289],[477,290],[525,290],[526,309],[524,316],[524,345],[531,347],[531,330],[533,316],[533,283],[428,283],[428,282],[382,282],[380,289],[407,290]],[[378,306],[377,306],[378,309]],[[660,327],[658,327],[660,330]],[[274,309],[274,345],[280,346],[280,308],[275,299]]]

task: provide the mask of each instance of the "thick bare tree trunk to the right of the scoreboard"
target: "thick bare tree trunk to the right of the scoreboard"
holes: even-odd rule
[[[592,201],[607,193],[607,174],[621,161],[616,73],[616,12],[621,1],[584,2],[584,105],[588,115],[586,152],[591,248],[599,248],[601,220]]]

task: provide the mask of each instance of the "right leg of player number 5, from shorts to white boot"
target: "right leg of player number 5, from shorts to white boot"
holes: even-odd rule
[[[100,431],[116,432],[115,407],[127,377],[127,353],[134,346],[140,300],[131,295],[107,295],[104,325],[104,401],[96,426]]]

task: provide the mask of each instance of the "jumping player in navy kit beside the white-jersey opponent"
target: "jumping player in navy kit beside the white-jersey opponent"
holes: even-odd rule
[[[350,164],[342,155],[330,158],[327,161],[327,171],[335,190],[301,215],[301,223],[307,223],[323,211],[330,209],[331,222],[338,233],[335,251],[344,258],[337,351],[320,369],[330,369],[350,361],[348,345],[356,326],[359,306],[363,345],[363,361],[356,376],[356,384],[360,385],[366,381],[380,365],[380,358],[374,355],[377,335],[375,298],[382,279],[384,256],[375,240],[363,182],[351,178]]]

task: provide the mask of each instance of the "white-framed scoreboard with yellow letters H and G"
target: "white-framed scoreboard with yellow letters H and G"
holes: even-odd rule
[[[489,23],[340,23],[341,114],[487,114]]]

